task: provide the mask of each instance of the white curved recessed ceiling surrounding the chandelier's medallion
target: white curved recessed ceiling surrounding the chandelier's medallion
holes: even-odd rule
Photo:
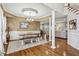
[[[51,15],[51,9],[41,3],[4,3],[3,6],[7,12],[13,13],[16,16],[24,16],[23,8],[34,8],[38,14],[34,18]]]

